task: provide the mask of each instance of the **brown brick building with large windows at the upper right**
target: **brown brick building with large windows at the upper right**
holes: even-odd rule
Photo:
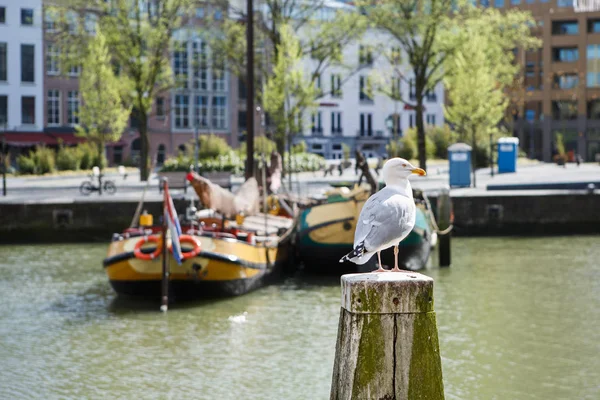
[[[600,153],[600,2],[596,0],[480,1],[532,12],[542,48],[517,50],[524,91],[515,109],[515,134],[535,158],[551,161],[556,134],[565,147],[592,161]]]

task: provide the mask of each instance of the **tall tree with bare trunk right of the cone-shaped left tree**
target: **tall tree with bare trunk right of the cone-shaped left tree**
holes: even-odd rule
[[[170,50],[173,35],[182,25],[181,16],[191,10],[192,0],[63,0],[56,6],[66,27],[56,35],[62,46],[69,48],[71,59],[87,48],[90,29],[87,21],[82,28],[78,15],[87,10],[92,20],[106,37],[113,62],[120,70],[121,79],[131,84],[127,101],[136,112],[140,133],[140,174],[142,180],[149,175],[148,117],[157,94],[170,89],[174,80],[170,67]],[[72,27],[76,26],[75,29]]]

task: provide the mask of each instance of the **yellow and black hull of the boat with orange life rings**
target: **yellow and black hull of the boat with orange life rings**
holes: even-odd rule
[[[177,264],[169,252],[169,285],[172,296],[235,296],[265,283],[285,261],[285,248],[252,245],[236,239],[197,236],[200,253]],[[160,296],[162,256],[141,260],[133,251],[141,237],[113,241],[104,260],[110,284],[119,294]],[[148,243],[142,249],[152,250]]]

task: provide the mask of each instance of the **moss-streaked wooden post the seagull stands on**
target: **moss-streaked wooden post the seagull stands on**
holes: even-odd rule
[[[342,276],[330,398],[444,399],[433,279],[414,272]]]

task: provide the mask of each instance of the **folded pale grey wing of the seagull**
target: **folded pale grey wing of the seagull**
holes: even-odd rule
[[[414,200],[394,194],[385,198],[369,213],[370,226],[364,237],[365,248],[369,251],[386,249],[403,240],[415,226]]]

